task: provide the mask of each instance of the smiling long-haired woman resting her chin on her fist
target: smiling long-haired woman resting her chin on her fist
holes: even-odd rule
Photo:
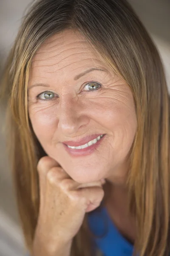
[[[125,0],[34,3],[3,94],[32,255],[169,253],[167,85]]]

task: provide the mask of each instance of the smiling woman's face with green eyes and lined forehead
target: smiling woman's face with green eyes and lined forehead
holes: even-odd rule
[[[133,95],[78,32],[55,35],[37,51],[28,101],[42,147],[74,180],[125,177],[136,133]]]

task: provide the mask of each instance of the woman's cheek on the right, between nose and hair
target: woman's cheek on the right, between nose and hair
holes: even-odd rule
[[[96,111],[96,122],[110,135],[111,151],[117,159],[125,158],[136,134],[137,119],[133,98],[125,102],[113,99],[102,102]]]

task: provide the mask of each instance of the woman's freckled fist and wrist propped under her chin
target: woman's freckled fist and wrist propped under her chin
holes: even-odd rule
[[[77,183],[51,157],[37,165],[40,180],[40,212],[36,236],[50,248],[67,244],[79,231],[85,212],[98,207],[104,196],[104,180]]]

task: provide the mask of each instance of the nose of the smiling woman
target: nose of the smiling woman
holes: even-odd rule
[[[85,114],[80,99],[71,95],[60,97],[58,106],[58,130],[65,136],[77,134],[82,126],[89,122],[88,116]]]

